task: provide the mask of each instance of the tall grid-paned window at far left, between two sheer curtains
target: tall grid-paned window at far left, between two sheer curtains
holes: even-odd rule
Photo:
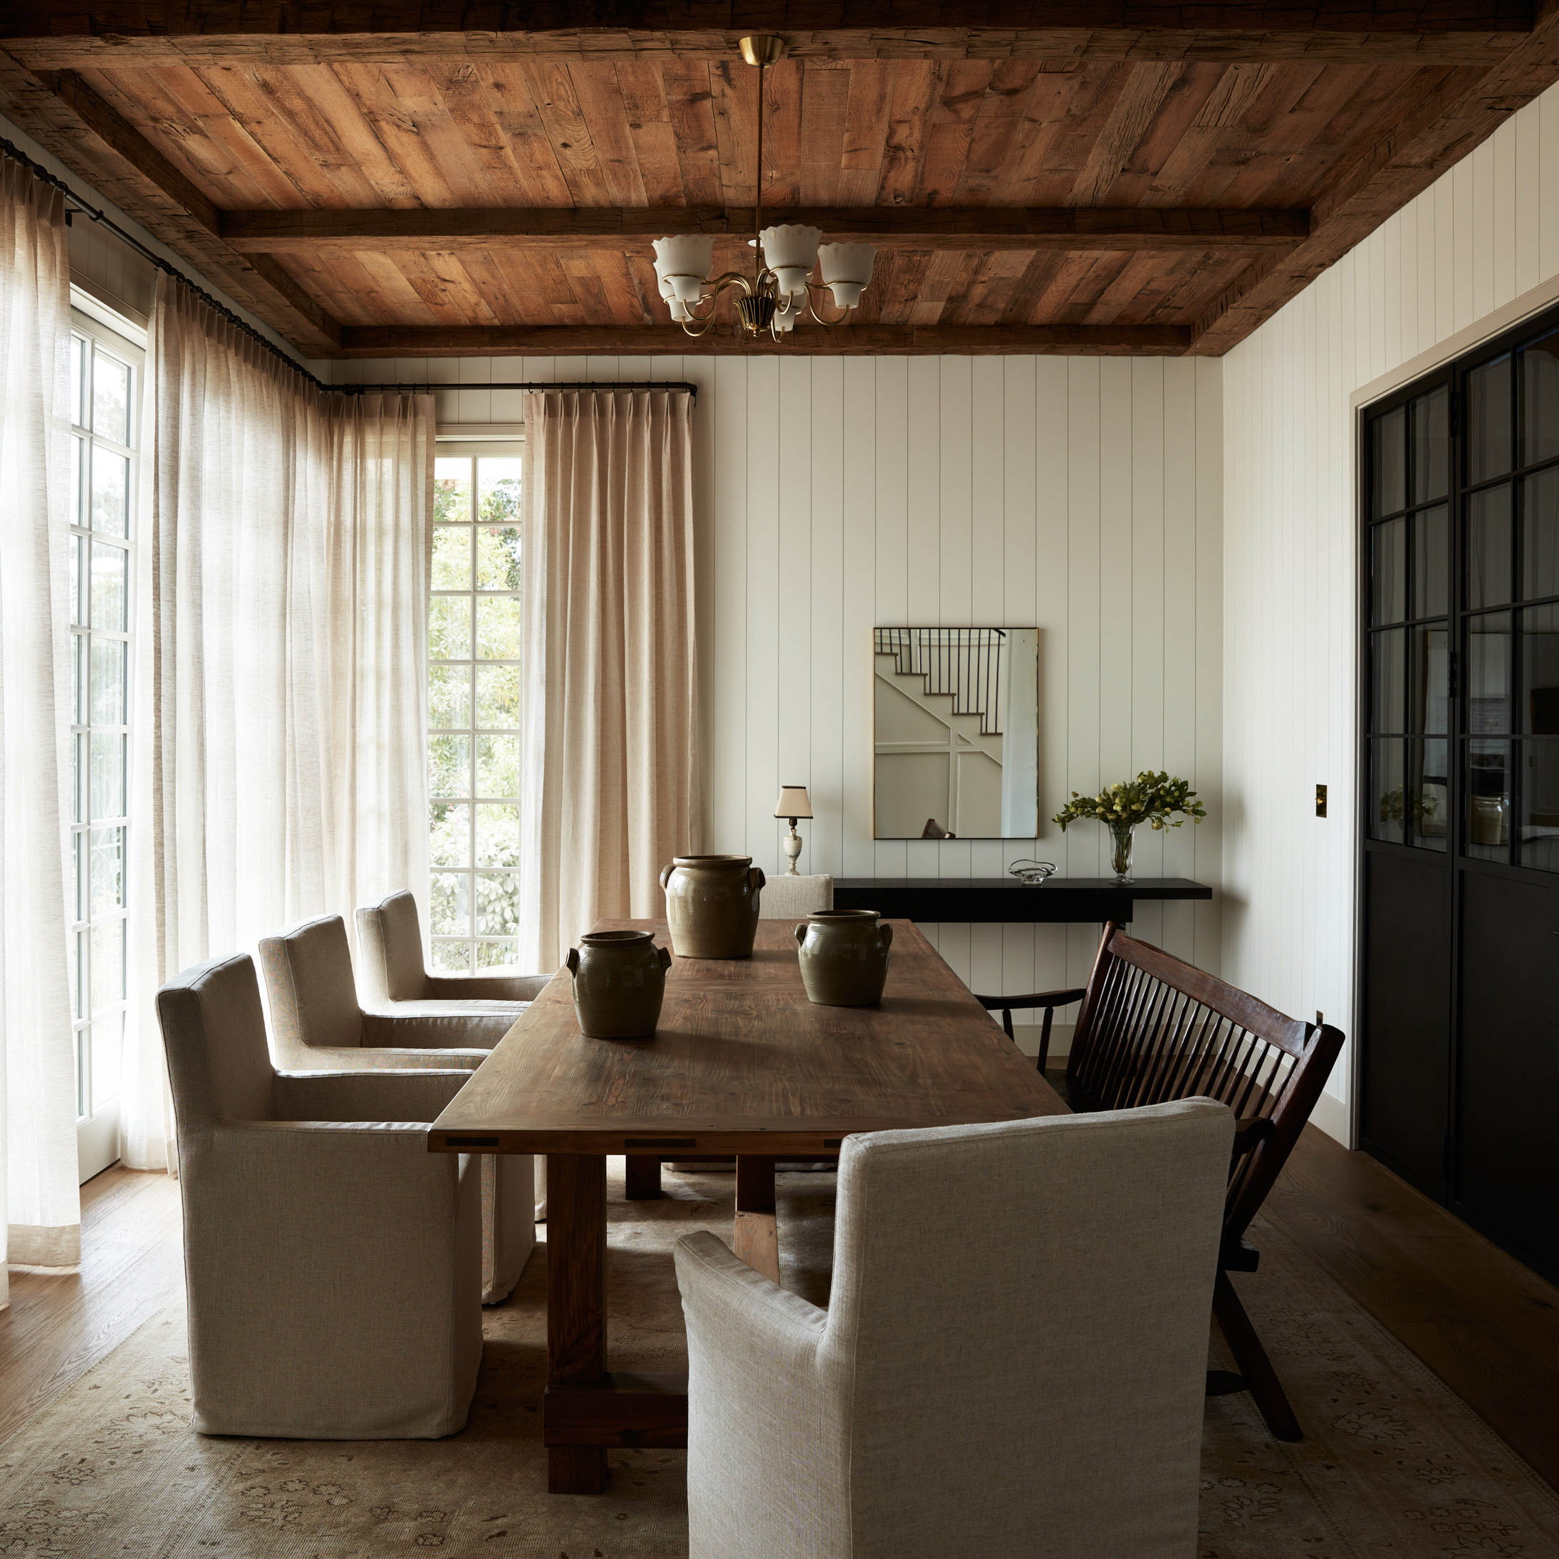
[[[136,404],[143,352],[73,316],[70,647],[72,647],[72,979],[76,1116],[83,1175],[117,1152],[125,1037],[126,864],[129,843],[131,624],[136,538]],[[92,1122],[103,1126],[95,1133]],[[106,1155],[106,1157],[104,1157]],[[89,1158],[101,1160],[89,1163]]]

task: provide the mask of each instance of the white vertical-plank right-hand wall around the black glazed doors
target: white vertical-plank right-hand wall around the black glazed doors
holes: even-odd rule
[[[1224,359],[1224,976],[1353,1027],[1355,410],[1553,296],[1559,87]],[[1517,302],[1520,299],[1520,302]],[[1512,304],[1515,306],[1512,310]],[[1456,340],[1451,340],[1451,338]],[[1330,817],[1314,817],[1314,786]],[[1319,1122],[1347,1135],[1350,1057]]]

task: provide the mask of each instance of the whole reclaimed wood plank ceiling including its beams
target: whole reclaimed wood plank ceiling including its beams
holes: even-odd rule
[[[1559,78],[1550,0],[935,3],[923,27],[903,0],[664,3],[631,31],[25,9],[0,106],[329,355],[751,349],[686,338],[650,251],[705,231],[719,268],[751,263],[747,30],[792,45],[765,221],[881,249],[848,329],[758,351],[1227,351]]]

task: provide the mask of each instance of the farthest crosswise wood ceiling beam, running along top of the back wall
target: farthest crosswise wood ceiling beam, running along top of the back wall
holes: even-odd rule
[[[778,345],[769,337],[737,340],[731,326],[719,334],[691,337],[678,326],[620,329],[616,326],[471,326],[424,329],[412,326],[341,327],[343,357],[577,357],[582,354],[659,357],[909,357],[959,352],[1001,355],[1013,352],[1077,354],[1088,357],[1179,357],[1191,332],[1174,324],[971,324],[898,326],[850,324],[837,331],[801,326]]]

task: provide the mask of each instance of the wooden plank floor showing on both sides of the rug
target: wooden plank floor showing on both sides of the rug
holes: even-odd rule
[[[0,1441],[179,1291],[175,1182],[108,1169],[81,1199],[80,1277],[11,1277]],[[1559,1487],[1559,1289],[1314,1127],[1266,1213]]]

